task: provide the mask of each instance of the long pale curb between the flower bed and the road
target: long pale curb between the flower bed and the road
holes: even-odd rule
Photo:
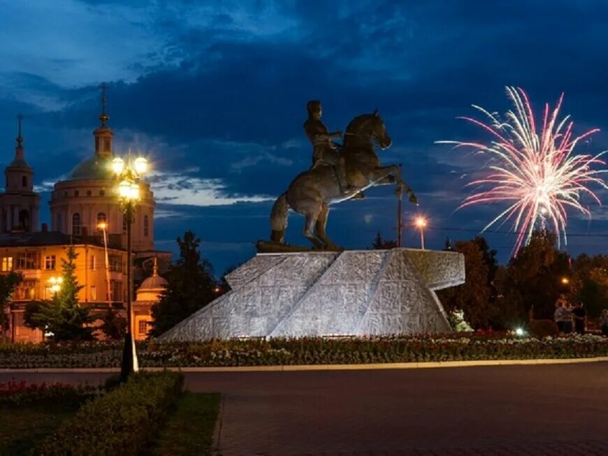
[[[305,371],[356,371],[388,369],[437,369],[441,367],[480,367],[480,366],[529,366],[584,364],[590,362],[608,362],[608,356],[596,358],[563,358],[535,360],[475,360],[475,361],[439,361],[439,362],[386,362],[376,364],[345,365],[280,365],[280,366],[236,366],[236,367],[147,367],[142,370],[158,372],[163,370],[181,372],[305,372]],[[0,374],[113,374],[120,372],[119,367],[76,367],[36,368],[36,369],[0,369]]]

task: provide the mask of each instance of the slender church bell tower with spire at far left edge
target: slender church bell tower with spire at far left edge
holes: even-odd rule
[[[0,232],[38,230],[40,196],[34,192],[34,170],[25,161],[21,124],[17,116],[18,132],[15,159],[4,170],[5,191],[0,194]]]

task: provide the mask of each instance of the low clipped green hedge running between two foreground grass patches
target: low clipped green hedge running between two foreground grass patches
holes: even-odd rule
[[[180,394],[175,372],[133,374],[119,388],[87,402],[33,455],[138,455],[152,441]]]

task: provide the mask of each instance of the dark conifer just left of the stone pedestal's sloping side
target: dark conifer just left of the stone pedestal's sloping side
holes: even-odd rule
[[[170,330],[215,299],[212,267],[207,260],[201,260],[198,251],[201,239],[187,231],[183,240],[178,237],[177,242],[180,258],[166,272],[168,286],[158,304],[152,306],[153,336]]]

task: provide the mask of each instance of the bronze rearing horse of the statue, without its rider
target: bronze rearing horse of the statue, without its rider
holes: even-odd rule
[[[397,197],[403,191],[410,196],[410,203],[418,204],[414,192],[401,177],[398,165],[380,166],[374,149],[374,142],[380,149],[391,147],[391,138],[386,133],[384,122],[378,112],[364,114],[352,119],[346,129],[342,151],[345,169],[352,191],[342,193],[333,168],[324,163],[310,168],[291,182],[289,188],[273,205],[270,213],[272,233],[270,240],[282,244],[287,229],[289,207],[305,216],[304,235],[317,249],[338,249],[326,234],[329,205],[349,200],[359,191],[371,186],[395,183]]]

